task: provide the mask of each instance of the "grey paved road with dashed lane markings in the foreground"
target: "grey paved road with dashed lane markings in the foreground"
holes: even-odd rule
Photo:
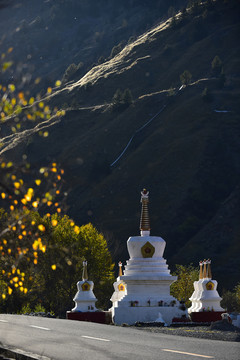
[[[238,360],[240,354],[235,342],[4,314],[0,315],[0,344],[53,360]]]

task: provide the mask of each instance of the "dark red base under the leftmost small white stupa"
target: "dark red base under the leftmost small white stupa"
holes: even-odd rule
[[[90,321],[99,324],[112,323],[112,313],[110,311],[95,311],[95,312],[67,311],[66,318],[69,320]]]

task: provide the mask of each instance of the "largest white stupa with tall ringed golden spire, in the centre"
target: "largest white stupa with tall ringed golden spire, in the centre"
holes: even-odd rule
[[[150,236],[148,215],[148,194],[141,193],[142,214],[141,236],[130,237],[127,248],[130,259],[124,274],[114,283],[112,318],[115,324],[159,321],[170,324],[174,317],[186,314],[179,302],[170,295],[170,285],[177,280],[171,276],[163,252],[166,242],[157,236]],[[116,291],[124,285],[124,292]]]

